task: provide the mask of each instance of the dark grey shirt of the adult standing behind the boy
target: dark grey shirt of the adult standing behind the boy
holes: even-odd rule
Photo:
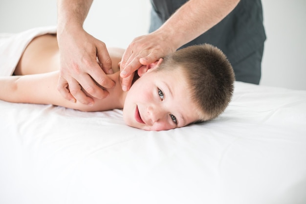
[[[159,28],[186,1],[151,0],[150,32]],[[219,47],[235,64],[263,46],[266,36],[262,22],[261,0],[240,0],[221,22],[182,47],[209,43]]]

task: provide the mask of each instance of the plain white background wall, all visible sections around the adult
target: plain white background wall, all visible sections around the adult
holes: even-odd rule
[[[120,5],[120,6],[119,6]],[[306,0],[262,0],[267,41],[262,85],[306,90]],[[84,27],[107,46],[146,34],[149,0],[95,0]],[[56,0],[0,0],[0,32],[56,24]]]

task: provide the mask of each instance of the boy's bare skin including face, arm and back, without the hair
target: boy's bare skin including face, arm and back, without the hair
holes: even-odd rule
[[[123,49],[109,48],[108,52],[114,71],[109,78],[115,82],[115,86],[105,89],[109,92],[108,97],[94,98],[94,102],[88,106],[82,101],[66,100],[57,89],[60,72],[56,36],[48,34],[37,37],[25,49],[15,76],[0,77],[0,100],[53,104],[81,111],[123,109],[125,123],[143,130],[169,130],[199,120],[198,105],[188,91],[189,83],[181,67],[154,71],[163,59],[142,66],[137,71],[140,78],[125,92],[121,89],[118,71]],[[177,81],[180,83],[177,84]],[[81,86],[77,88],[80,90]],[[89,95],[87,90],[83,91]]]

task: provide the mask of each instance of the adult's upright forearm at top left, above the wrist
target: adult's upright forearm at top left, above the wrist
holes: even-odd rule
[[[66,26],[83,27],[93,0],[58,0],[58,32]]]

